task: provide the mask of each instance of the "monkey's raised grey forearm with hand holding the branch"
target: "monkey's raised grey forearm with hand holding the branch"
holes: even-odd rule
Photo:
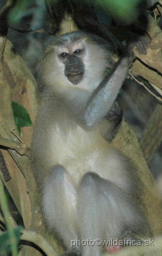
[[[129,65],[134,59],[133,48],[135,45],[140,54],[147,54],[147,40],[144,37],[128,45],[125,56],[121,57],[86,102],[83,118],[87,126],[92,126],[110,110],[125,80]]]

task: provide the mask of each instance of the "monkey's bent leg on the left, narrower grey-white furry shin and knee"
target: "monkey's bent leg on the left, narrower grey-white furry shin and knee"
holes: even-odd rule
[[[59,232],[68,251],[70,240],[76,241],[76,190],[70,175],[62,166],[53,166],[43,188],[43,213],[51,230]],[[80,255],[80,246],[73,246],[71,255]]]

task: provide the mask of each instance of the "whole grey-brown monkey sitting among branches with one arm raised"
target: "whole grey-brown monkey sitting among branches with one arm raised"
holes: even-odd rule
[[[113,115],[121,119],[113,104],[135,45],[140,54],[147,53],[145,40],[130,42],[116,62],[115,47],[107,40],[79,30],[55,38],[39,59],[41,102],[31,143],[32,170],[43,217],[63,240],[64,256],[101,255],[102,246],[80,246],[77,239],[152,235],[137,170],[109,143],[120,123]],[[108,123],[115,123],[108,128],[107,113]]]

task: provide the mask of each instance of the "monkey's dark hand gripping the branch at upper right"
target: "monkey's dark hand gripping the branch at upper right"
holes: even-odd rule
[[[134,54],[134,47],[137,47],[137,50],[139,54],[147,54],[147,48],[148,43],[150,42],[150,39],[145,36],[139,36],[138,38],[135,38],[128,42],[127,48],[126,48],[126,55],[129,57],[130,63],[133,62],[135,58]]]

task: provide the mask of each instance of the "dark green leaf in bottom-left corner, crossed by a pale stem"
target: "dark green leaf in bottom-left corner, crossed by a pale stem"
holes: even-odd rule
[[[20,231],[23,229],[23,227],[18,227],[14,229],[14,242],[18,246],[18,242],[20,240],[21,233]],[[8,234],[8,231],[3,232],[2,235],[0,235],[0,255],[7,255],[11,251],[11,242],[10,242],[10,236]]]

